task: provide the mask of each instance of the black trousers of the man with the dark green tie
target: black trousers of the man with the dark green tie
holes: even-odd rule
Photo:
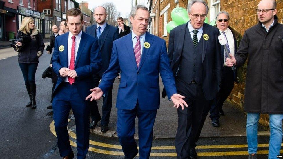
[[[188,104],[184,110],[178,109],[178,129],[175,138],[177,158],[190,158],[190,148],[196,147],[210,103],[204,97],[202,85],[186,84],[176,79],[177,92],[185,96]]]

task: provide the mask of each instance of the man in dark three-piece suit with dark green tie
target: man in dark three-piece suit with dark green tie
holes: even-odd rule
[[[177,91],[188,104],[178,111],[175,146],[178,159],[197,158],[195,151],[210,104],[221,81],[217,28],[204,23],[208,6],[203,0],[188,4],[190,21],[170,31],[168,56]],[[164,91],[163,91],[164,96]]]

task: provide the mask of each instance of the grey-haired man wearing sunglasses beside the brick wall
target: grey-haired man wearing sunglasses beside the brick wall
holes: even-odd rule
[[[226,11],[221,11],[216,16],[216,27],[219,29],[220,34],[224,35],[227,39],[226,47],[228,51],[234,56],[237,52],[237,48],[242,39],[242,35],[229,26],[230,16]],[[227,58],[227,54],[224,50],[224,46],[221,47],[221,66],[222,66],[222,75],[220,90],[216,95],[216,98],[213,101],[213,104],[210,108],[210,118],[212,120],[211,124],[214,127],[219,127],[219,118],[224,116],[224,111],[222,109],[224,101],[230,95],[233,87],[234,81],[237,80],[236,70],[231,70],[230,67],[224,62]],[[230,57],[229,57],[230,58]],[[239,73],[241,75],[241,73]],[[241,78],[239,78],[241,79]]]

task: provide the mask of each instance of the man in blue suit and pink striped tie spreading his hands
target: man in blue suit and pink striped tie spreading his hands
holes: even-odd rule
[[[117,134],[127,159],[138,153],[134,140],[136,116],[139,119],[139,158],[150,156],[153,124],[160,104],[159,73],[174,106],[182,109],[187,106],[182,99],[184,96],[177,94],[165,40],[146,32],[149,15],[144,6],[132,9],[132,33],[114,41],[109,68],[99,87],[92,89],[92,94],[86,98],[99,99],[122,70],[116,104]]]

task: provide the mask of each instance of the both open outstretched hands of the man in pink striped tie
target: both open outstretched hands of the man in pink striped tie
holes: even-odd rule
[[[90,97],[91,97],[90,101],[99,100],[103,95],[103,91],[99,87],[90,89],[90,91],[92,91],[92,93],[86,97],[86,100],[88,100]],[[184,105],[188,107],[187,103],[183,100],[183,98],[185,97],[181,96],[180,94],[177,93],[173,94],[171,96],[171,100],[174,103],[174,107],[176,107],[177,109],[181,107],[182,110],[184,110]]]

